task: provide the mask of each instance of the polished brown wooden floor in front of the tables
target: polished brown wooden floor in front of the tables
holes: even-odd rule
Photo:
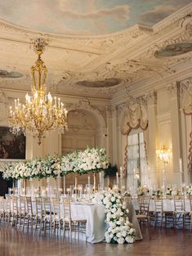
[[[133,245],[89,244],[66,237],[64,240],[33,235],[0,224],[0,256],[192,256],[192,232],[151,228],[151,239]]]

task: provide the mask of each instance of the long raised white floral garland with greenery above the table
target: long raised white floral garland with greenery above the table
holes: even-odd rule
[[[109,160],[103,148],[87,148],[74,151],[61,157],[47,155],[45,159],[37,158],[26,162],[3,164],[1,171],[4,179],[33,177],[58,177],[67,173],[100,172],[108,168]]]

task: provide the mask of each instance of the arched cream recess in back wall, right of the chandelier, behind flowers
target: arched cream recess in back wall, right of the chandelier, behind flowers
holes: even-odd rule
[[[106,147],[104,134],[105,119],[97,110],[86,106],[71,106],[68,108],[69,129],[61,137],[61,154],[66,155],[74,150],[84,150],[89,147]],[[87,184],[87,174],[78,176],[78,184]],[[91,175],[91,182],[93,177]],[[96,183],[99,175],[96,176]],[[65,187],[74,184],[74,174],[65,177]]]

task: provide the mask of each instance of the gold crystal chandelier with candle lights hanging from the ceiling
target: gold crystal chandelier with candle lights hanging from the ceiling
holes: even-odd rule
[[[32,41],[34,52],[38,55],[38,60],[31,67],[32,92],[31,96],[25,96],[25,105],[20,103],[20,99],[15,100],[14,110],[10,106],[9,123],[11,132],[16,135],[32,132],[33,137],[38,137],[38,145],[42,143],[45,133],[50,130],[65,132],[67,129],[67,110],[60,98],[51,97],[47,93],[45,85],[47,78],[47,67],[41,59],[42,52],[46,46],[43,38]]]

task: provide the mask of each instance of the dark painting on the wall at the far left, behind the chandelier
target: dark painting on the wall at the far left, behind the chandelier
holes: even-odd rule
[[[25,159],[26,137],[16,136],[8,127],[0,127],[0,159]]]

